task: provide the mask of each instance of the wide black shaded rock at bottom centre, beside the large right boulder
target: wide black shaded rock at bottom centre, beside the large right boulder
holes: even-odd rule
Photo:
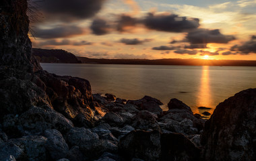
[[[126,160],[199,160],[199,148],[179,133],[131,131],[119,142],[119,152]]]

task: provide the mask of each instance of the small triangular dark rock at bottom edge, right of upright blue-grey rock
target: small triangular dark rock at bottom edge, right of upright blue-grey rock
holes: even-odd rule
[[[86,156],[84,156],[84,154],[82,154],[82,152],[79,150],[78,146],[73,146],[69,152],[67,152],[67,155],[65,156],[65,158],[69,159],[70,161],[84,161],[84,160],[88,160],[88,158],[86,158]]]

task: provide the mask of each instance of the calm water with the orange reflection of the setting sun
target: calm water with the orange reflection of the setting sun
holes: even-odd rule
[[[166,108],[177,98],[189,105],[215,108],[244,89],[256,88],[256,67],[245,66],[154,66],[116,64],[47,64],[42,68],[59,75],[86,78],[93,93],[113,93],[123,99],[150,95]],[[209,110],[212,113],[212,110]]]

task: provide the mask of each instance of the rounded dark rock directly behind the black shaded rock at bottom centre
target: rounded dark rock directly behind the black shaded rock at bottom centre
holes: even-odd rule
[[[158,121],[156,119],[158,116],[154,113],[151,113],[150,111],[142,110],[135,115],[133,119],[133,124],[132,126],[135,129],[144,129],[144,130],[149,130],[149,129],[157,129],[160,130],[160,127],[158,125]]]

